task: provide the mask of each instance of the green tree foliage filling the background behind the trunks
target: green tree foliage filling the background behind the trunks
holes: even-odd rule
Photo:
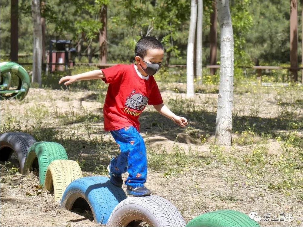
[[[42,2],[42,1],[41,1]],[[134,61],[135,44],[142,36],[158,38],[165,47],[165,61],[170,64],[186,64],[190,2],[185,0],[49,0],[41,4],[41,15],[46,21],[46,48],[51,39],[71,39],[72,47],[82,45],[82,52],[91,47],[98,62],[99,31],[102,28],[100,10],[107,5],[108,63]],[[289,65],[289,2],[288,1],[230,1],[235,44],[235,83],[246,79],[238,66]],[[203,64],[209,60],[209,30],[212,0],[203,1]],[[298,4],[301,12],[301,4]],[[298,41],[301,41],[299,17]],[[19,0],[19,54],[32,53],[31,1]],[[10,1],[1,1],[1,60],[10,52]],[[218,37],[220,31],[218,27]],[[220,39],[217,39],[219,50]],[[301,45],[298,45],[298,59]],[[219,51],[218,51],[219,57]],[[31,62],[32,56],[20,57],[19,62]],[[88,62],[82,57],[76,61]],[[166,72],[169,72],[167,70]],[[217,71],[218,72],[218,71]],[[253,78],[255,70],[247,70]],[[182,72],[184,73],[184,72]],[[180,73],[180,74],[182,74]],[[287,70],[264,72],[262,81],[288,80]],[[166,76],[168,78],[168,76]],[[218,77],[215,77],[216,80]],[[209,78],[208,78],[209,79]],[[214,81],[213,80],[213,81]],[[183,79],[184,81],[184,79]]]

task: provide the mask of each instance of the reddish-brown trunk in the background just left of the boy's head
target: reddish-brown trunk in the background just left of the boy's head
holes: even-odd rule
[[[100,21],[102,22],[101,33],[99,34],[99,63],[107,63],[107,37],[106,37],[106,26],[107,26],[107,5],[102,5],[100,9]]]

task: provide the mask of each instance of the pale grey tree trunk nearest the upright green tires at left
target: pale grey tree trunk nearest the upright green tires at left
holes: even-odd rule
[[[34,46],[33,46],[33,74],[32,83],[39,84],[42,87],[42,26],[40,16],[40,0],[32,0],[32,18],[34,25]]]

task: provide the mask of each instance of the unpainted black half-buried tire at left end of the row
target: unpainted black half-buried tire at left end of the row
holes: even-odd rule
[[[23,132],[8,132],[1,134],[0,141],[0,160],[7,161],[15,152],[19,160],[20,173],[22,173],[28,149],[36,142],[35,138]]]

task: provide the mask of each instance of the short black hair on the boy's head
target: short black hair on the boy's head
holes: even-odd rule
[[[158,41],[158,39],[151,36],[142,37],[136,44],[135,56],[144,58],[147,54],[147,51],[150,49],[161,49],[164,51],[164,47]]]

